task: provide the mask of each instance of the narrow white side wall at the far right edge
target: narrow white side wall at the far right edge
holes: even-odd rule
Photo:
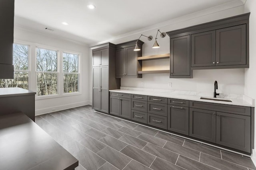
[[[244,5],[244,12],[251,12],[249,20],[249,55],[250,68],[245,69],[244,93],[251,98],[256,99],[256,1],[247,0]],[[256,103],[255,103],[256,104]],[[256,122],[256,117],[254,117]],[[256,136],[256,126],[254,127],[254,137]],[[256,147],[256,140],[254,138],[254,148]],[[256,163],[256,151],[252,152],[252,160]]]

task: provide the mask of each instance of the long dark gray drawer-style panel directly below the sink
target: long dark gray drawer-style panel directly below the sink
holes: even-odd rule
[[[226,113],[234,113],[238,115],[247,115],[247,116],[251,115],[251,107],[246,107],[246,106],[190,101],[189,107],[197,108],[197,109],[220,111],[220,112],[226,112]]]

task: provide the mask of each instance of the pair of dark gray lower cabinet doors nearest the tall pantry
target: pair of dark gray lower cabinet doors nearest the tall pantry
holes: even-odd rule
[[[131,99],[110,96],[110,114],[131,119]]]

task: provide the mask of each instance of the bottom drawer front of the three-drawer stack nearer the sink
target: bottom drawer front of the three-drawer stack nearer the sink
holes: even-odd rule
[[[148,125],[167,129],[167,117],[148,113]]]

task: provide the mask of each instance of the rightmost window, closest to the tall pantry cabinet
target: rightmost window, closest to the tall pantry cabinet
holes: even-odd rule
[[[63,92],[78,92],[78,55],[63,53]]]

